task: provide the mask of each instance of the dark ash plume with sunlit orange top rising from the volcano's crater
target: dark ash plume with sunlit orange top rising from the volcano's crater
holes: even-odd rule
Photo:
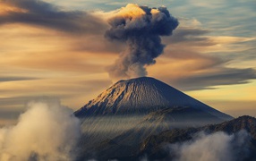
[[[130,79],[147,75],[146,65],[155,64],[164,45],[160,36],[169,36],[178,21],[166,7],[149,8],[127,4],[108,20],[111,26],[106,38],[126,43],[119,58],[107,68],[112,80]]]

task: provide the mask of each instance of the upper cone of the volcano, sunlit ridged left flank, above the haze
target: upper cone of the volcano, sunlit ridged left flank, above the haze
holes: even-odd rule
[[[120,80],[74,114],[78,117],[149,114],[159,109],[191,107],[230,120],[231,116],[207,106],[166,83],[150,77]]]

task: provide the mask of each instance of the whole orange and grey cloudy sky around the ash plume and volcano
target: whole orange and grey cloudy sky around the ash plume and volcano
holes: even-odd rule
[[[127,4],[165,6],[179,21],[147,76],[232,116],[256,116],[255,0],[0,0],[0,125],[33,100],[79,109],[115,80],[125,43],[106,38]]]

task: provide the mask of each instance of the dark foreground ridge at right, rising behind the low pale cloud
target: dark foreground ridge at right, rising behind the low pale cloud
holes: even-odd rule
[[[134,158],[140,158],[141,156],[147,154],[149,159],[153,160],[172,160],[174,156],[172,156],[169,150],[164,150],[166,144],[175,144],[183,141],[190,141],[192,140],[192,136],[194,134],[199,133],[201,131],[207,133],[208,135],[219,131],[223,131],[226,134],[233,136],[233,142],[241,141],[241,136],[235,138],[235,135],[239,135],[239,132],[241,131],[246,131],[246,138],[243,140],[243,147],[236,149],[236,153],[239,155],[237,155],[235,160],[256,160],[256,119],[251,116],[241,116],[229,122],[211,124],[200,128],[187,128],[163,131],[158,135],[152,135],[146,140],[143,140],[140,145],[140,152],[137,154],[137,156],[135,155]],[[208,146],[210,147],[211,145]]]

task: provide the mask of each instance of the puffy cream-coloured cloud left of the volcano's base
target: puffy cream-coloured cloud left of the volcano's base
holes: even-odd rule
[[[80,135],[73,110],[58,102],[32,102],[16,125],[0,129],[0,160],[73,160]]]

